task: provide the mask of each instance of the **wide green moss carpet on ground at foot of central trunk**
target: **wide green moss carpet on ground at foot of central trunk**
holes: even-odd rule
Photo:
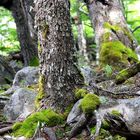
[[[13,135],[30,138],[34,135],[38,123],[46,124],[48,127],[52,127],[58,124],[62,124],[63,117],[51,109],[36,112],[24,120],[24,122],[14,124]]]

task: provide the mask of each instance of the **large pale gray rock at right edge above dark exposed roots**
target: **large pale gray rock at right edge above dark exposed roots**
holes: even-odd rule
[[[114,103],[113,103],[114,102]],[[121,113],[125,125],[131,134],[140,135],[140,97],[131,99],[108,100],[106,105],[102,105],[98,109],[98,113],[103,120],[105,114],[117,110]]]

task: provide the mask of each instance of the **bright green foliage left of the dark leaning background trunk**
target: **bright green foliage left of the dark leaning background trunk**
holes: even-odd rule
[[[16,26],[10,11],[0,7],[0,54],[19,50]]]

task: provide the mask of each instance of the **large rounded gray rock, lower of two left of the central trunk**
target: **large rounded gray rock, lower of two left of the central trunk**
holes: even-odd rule
[[[17,89],[4,107],[4,115],[8,121],[26,118],[35,109],[36,94],[33,90]]]

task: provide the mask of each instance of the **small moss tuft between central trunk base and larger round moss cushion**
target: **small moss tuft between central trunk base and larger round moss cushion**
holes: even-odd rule
[[[75,97],[77,99],[81,99],[83,97],[85,97],[85,95],[88,94],[88,91],[86,89],[76,89],[75,91]]]

